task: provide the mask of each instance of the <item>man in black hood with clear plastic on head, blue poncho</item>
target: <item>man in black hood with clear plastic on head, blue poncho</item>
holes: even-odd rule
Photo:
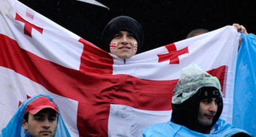
[[[223,108],[219,80],[192,64],[174,88],[171,121],[143,131],[144,137],[250,137],[219,119]]]

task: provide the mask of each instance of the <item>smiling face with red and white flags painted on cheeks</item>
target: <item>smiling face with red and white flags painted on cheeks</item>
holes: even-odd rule
[[[114,34],[110,42],[110,53],[122,59],[132,57],[136,54],[137,49],[137,40],[133,33],[129,33],[128,31],[119,31]]]

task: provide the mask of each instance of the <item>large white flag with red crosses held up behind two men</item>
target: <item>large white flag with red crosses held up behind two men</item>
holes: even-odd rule
[[[144,128],[170,119],[173,89],[192,63],[219,78],[222,118],[231,123],[238,41],[228,26],[124,63],[17,0],[2,0],[0,130],[19,102],[44,93],[54,97],[72,137],[142,137]]]

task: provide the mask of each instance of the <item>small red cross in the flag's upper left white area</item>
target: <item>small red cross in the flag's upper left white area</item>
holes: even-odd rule
[[[30,22],[24,20],[20,15],[18,15],[18,13],[16,13],[15,20],[18,20],[18,21],[21,21],[21,22],[25,23],[25,26],[24,26],[24,34],[25,35],[28,35],[28,36],[30,36],[32,38],[32,35],[31,35],[32,28],[36,29],[38,32],[43,34],[43,28],[37,27],[36,25],[31,24]]]

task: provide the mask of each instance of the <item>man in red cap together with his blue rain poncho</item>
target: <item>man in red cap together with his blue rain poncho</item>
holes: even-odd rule
[[[49,95],[24,101],[0,137],[71,137],[57,104]]]

